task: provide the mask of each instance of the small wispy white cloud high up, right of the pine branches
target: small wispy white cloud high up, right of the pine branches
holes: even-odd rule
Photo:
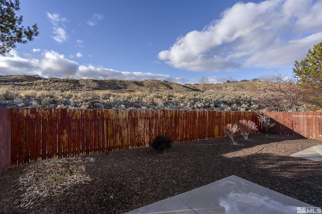
[[[61,18],[57,13],[46,13],[47,18],[53,24],[54,31],[52,32],[54,36],[52,37],[57,43],[66,42],[68,39],[66,31],[60,26],[60,23],[67,22],[66,18]]]

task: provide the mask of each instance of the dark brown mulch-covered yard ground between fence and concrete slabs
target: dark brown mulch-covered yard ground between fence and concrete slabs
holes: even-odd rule
[[[0,175],[0,213],[123,213],[236,175],[322,206],[322,162],[290,154],[322,144],[290,136],[253,134],[174,143],[164,154],[150,147],[89,155],[87,184],[75,184],[25,208],[17,207],[17,179],[30,164]],[[82,158],[86,158],[85,156]],[[89,158],[89,157],[87,157]]]

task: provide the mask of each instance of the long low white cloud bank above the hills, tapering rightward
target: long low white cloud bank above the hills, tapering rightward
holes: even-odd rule
[[[81,56],[81,53],[77,53]],[[77,56],[76,54],[76,56]],[[20,57],[18,52],[13,50],[6,56],[0,56],[0,75],[33,75],[42,77],[64,78],[68,72],[73,78],[93,78],[93,79],[119,79],[119,80],[145,80],[154,78],[157,80],[167,80],[178,83],[185,83],[187,79],[183,77],[172,78],[169,75],[117,71],[108,68],[96,67],[93,65],[79,65],[77,62],[68,60],[62,54],[55,51],[44,51],[41,55]]]

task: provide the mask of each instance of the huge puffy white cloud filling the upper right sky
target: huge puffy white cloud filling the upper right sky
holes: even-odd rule
[[[189,71],[284,67],[322,41],[322,0],[237,3],[202,31],[179,37],[158,58]]]

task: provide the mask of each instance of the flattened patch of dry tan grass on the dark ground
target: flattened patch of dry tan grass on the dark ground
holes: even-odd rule
[[[54,158],[30,164],[17,180],[21,197],[15,202],[20,207],[35,205],[47,196],[57,197],[73,184],[87,183],[91,178],[84,174],[83,163],[90,161],[94,158]]]

